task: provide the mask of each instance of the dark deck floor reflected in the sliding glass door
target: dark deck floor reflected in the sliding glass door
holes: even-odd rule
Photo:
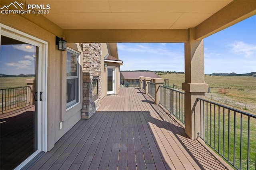
[[[12,169],[30,156],[34,148],[34,105],[0,115],[0,169]]]

